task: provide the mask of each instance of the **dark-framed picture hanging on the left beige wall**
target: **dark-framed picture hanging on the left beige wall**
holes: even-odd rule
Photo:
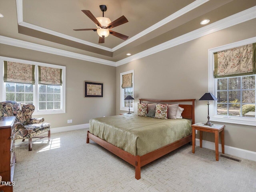
[[[84,97],[103,97],[103,83],[85,81]]]

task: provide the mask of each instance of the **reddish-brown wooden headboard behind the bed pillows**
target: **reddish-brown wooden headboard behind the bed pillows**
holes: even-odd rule
[[[180,100],[156,100],[156,99],[139,99],[140,103],[160,103],[160,104],[179,104],[180,107],[184,108],[182,117],[191,119],[192,124],[195,123],[195,100],[196,99],[180,99]],[[180,104],[180,102],[190,102],[192,104]]]

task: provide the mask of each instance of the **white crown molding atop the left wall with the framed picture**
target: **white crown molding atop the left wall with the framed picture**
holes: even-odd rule
[[[100,64],[104,64],[104,65],[116,66],[116,62],[113,62],[113,61],[104,60],[104,59],[87,56],[87,55],[83,55],[83,54],[78,54],[78,53],[61,50],[61,49],[57,49],[57,48],[52,48],[49,46],[44,46],[44,45],[40,45],[40,44],[36,44],[36,43],[23,41],[23,40],[18,40],[18,39],[6,37],[6,36],[0,36],[0,43],[10,45],[10,46],[16,46],[16,47],[20,47],[20,48],[31,49],[31,50],[35,50],[35,51],[75,58],[75,59],[89,61],[89,62],[100,63]]]

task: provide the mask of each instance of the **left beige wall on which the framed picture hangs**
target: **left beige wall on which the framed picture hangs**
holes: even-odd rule
[[[0,56],[66,66],[66,113],[44,117],[52,128],[89,123],[116,113],[116,67],[0,44]],[[103,98],[84,98],[84,81],[103,82]],[[67,120],[73,122],[68,124]]]

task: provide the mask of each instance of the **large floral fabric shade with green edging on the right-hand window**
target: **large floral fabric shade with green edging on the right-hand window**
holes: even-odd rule
[[[256,74],[256,43],[214,53],[214,78]]]

